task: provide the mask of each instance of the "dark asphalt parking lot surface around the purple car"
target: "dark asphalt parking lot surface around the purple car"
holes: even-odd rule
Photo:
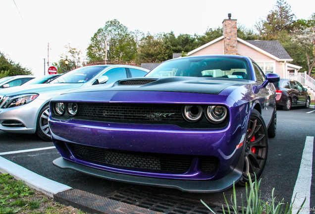
[[[305,207],[313,208],[315,206],[315,178],[312,176],[315,173],[313,167],[315,159],[313,156],[314,106],[309,109],[293,108],[290,111],[278,110],[277,112],[277,135],[269,139],[268,159],[261,177],[262,199],[270,201],[271,191],[275,188],[275,197],[279,201],[284,198],[285,202],[291,202],[295,193],[298,193],[298,196],[302,193],[302,198],[307,197]],[[59,169],[52,165],[52,160],[60,157],[53,148],[53,144],[41,141],[35,135],[0,131],[0,139],[2,158],[78,190],[79,193],[76,194],[84,191],[84,197],[102,197],[107,203],[106,206],[108,204],[113,206],[115,202],[132,205],[126,208],[129,210],[124,211],[126,213],[131,213],[130,209],[134,209],[135,205],[137,209],[146,209],[142,210],[145,213],[152,211],[198,214],[207,211],[200,199],[217,208],[224,204],[222,193],[183,193],[174,189],[108,181],[72,170]],[[311,151],[310,148],[312,148]],[[236,191],[239,197],[246,193],[244,187],[237,186]],[[224,194],[229,198],[232,190],[229,189]],[[61,196],[61,199],[62,197],[70,196]],[[133,210],[133,212],[136,211]]]

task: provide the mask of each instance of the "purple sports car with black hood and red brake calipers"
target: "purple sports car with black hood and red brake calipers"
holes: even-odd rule
[[[262,174],[279,76],[238,55],[180,57],[50,103],[53,163],[135,184],[217,192]]]

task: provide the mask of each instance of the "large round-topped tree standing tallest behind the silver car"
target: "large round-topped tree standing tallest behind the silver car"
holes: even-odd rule
[[[91,38],[87,48],[90,61],[124,60],[131,61],[136,57],[137,44],[128,28],[117,19],[107,21],[103,28]]]

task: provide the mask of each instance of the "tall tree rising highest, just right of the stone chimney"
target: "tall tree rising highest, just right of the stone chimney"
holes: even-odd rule
[[[276,40],[278,33],[293,29],[295,15],[291,6],[284,0],[277,0],[265,20],[260,20],[255,27],[263,40]]]

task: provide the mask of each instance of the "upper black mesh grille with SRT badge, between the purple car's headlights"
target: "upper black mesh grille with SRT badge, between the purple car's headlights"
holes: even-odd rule
[[[78,116],[122,120],[184,121],[181,106],[139,104],[78,104]]]

